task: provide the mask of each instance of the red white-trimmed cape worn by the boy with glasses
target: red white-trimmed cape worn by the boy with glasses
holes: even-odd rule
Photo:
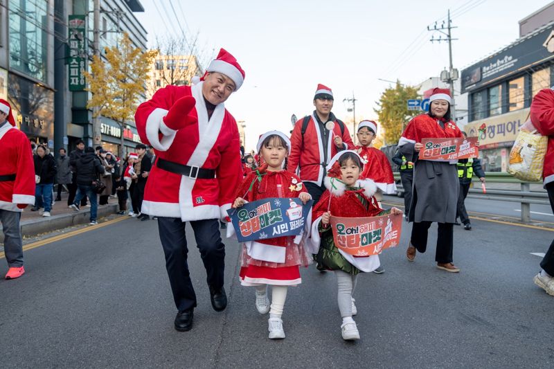
[[[396,184],[394,181],[393,169],[391,163],[386,159],[386,155],[375,147],[356,146],[356,150],[364,159],[364,172],[361,172],[360,179],[372,179],[377,188],[383,193],[395,193]]]

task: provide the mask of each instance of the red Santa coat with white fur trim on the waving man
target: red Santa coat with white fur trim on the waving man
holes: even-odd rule
[[[202,84],[168,86],[136,110],[136,128],[143,143],[154,147],[156,157],[174,163],[213,169],[214,179],[196,179],[152,167],[146,183],[141,211],[161,217],[180,217],[184,222],[226,217],[235,189],[242,180],[240,138],[235,118],[223,104],[217,105],[208,121]],[[173,103],[193,96],[190,111],[197,122],[175,131],[163,123]],[[224,165],[221,165],[224,163]]]

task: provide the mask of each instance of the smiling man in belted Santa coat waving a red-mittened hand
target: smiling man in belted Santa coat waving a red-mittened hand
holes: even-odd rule
[[[219,220],[228,219],[226,210],[242,181],[242,163],[237,123],[223,103],[243,81],[235,57],[221,49],[201,82],[159,89],[135,114],[141,141],[154,147],[157,156],[141,212],[158,217],[178,331],[190,330],[196,307],[185,222],[195,232],[213,309],[220,312],[227,305]]]

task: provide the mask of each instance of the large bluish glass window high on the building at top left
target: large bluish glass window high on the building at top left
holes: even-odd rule
[[[9,1],[10,68],[46,81],[48,57],[48,1]]]

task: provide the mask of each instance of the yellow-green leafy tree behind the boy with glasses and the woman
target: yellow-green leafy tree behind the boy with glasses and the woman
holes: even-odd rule
[[[418,90],[415,87],[405,86],[397,80],[395,87],[386,89],[379,98],[379,102],[376,102],[379,108],[374,110],[379,116],[379,123],[384,128],[384,141],[387,145],[397,143],[409,120],[421,113],[408,110],[407,100],[415,98],[418,98]]]

